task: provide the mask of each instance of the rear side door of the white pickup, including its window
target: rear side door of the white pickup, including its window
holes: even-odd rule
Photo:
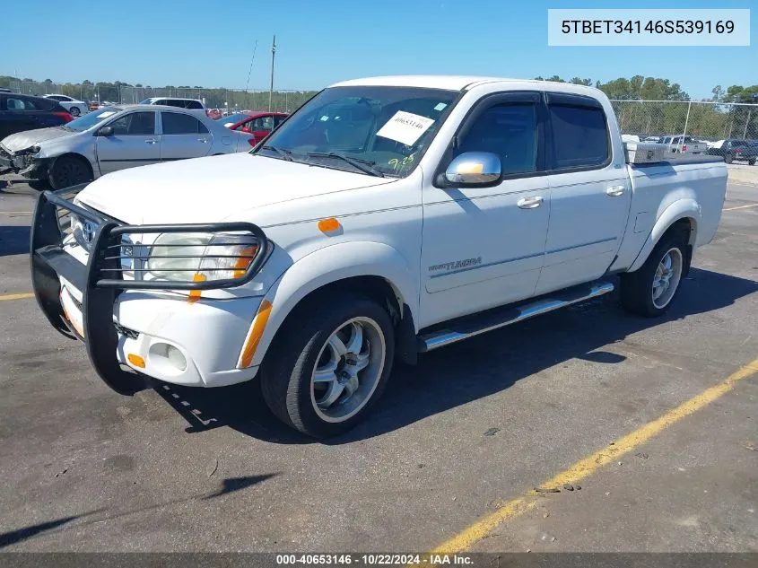
[[[606,110],[592,97],[547,92],[550,226],[536,293],[595,280],[619,249],[632,192],[614,155]]]

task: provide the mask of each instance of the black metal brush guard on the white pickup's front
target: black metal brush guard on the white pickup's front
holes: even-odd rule
[[[31,224],[31,284],[39,308],[47,316],[53,328],[71,339],[80,339],[87,346],[87,354],[100,378],[111,389],[125,395],[133,395],[144,389],[143,376],[125,371],[118,362],[118,332],[113,322],[113,305],[119,293],[127,289],[141,290],[215,290],[231,288],[248,283],[266,261],[270,243],[266,235],[253,223],[207,223],[169,225],[123,225],[79,205],[73,197],[87,184],[65,188],[60,191],[45,191],[39,195]],[[65,238],[59,211],[68,211],[94,223],[97,230],[91,239],[89,259],[84,266],[62,248]],[[122,260],[131,256],[124,253],[122,236],[129,233],[248,233],[259,243],[251,253],[250,264],[240,278],[204,282],[171,282],[124,280]],[[219,257],[222,257],[219,255]],[[144,258],[144,257],[141,257]],[[176,258],[180,258],[179,255]],[[187,257],[181,257],[187,258]],[[199,258],[199,257],[198,257]],[[142,270],[146,272],[146,270]],[[84,336],[80,336],[65,317],[60,301],[62,276],[83,293],[82,316]]]

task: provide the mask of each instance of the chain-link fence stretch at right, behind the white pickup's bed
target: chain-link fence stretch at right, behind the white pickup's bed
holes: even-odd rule
[[[623,134],[690,135],[715,142],[758,139],[758,104],[695,100],[612,100]]]

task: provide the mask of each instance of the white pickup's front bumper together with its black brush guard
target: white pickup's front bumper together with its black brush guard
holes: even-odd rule
[[[260,229],[249,223],[160,228],[119,225],[65,200],[83,187],[43,192],[34,213],[31,280],[39,307],[52,326],[65,336],[82,340],[100,378],[122,394],[144,389],[145,377],[198,387],[252,379],[257,368],[240,369],[238,360],[261,298],[190,301],[186,295],[167,292],[167,288],[204,290],[245,284],[257,273],[264,258],[254,258],[246,275],[233,283],[217,280],[169,284],[124,280],[113,249],[120,247],[120,236],[128,232],[179,232],[178,227],[182,231],[190,227],[196,231],[249,229],[265,242]],[[61,209],[98,225],[86,266],[63,247],[65,232],[58,214]],[[145,288],[154,292],[146,292]]]

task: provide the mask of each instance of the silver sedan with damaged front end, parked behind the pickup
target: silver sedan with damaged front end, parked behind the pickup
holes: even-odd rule
[[[202,110],[124,105],[7,136],[0,142],[0,163],[58,189],[110,171],[244,152],[254,144],[253,135],[225,128]]]

